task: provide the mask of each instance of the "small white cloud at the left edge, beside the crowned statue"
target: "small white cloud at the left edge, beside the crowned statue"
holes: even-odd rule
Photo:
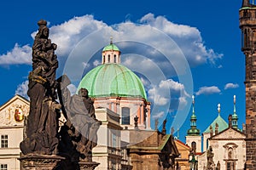
[[[32,63],[32,48],[28,45],[20,47],[15,43],[15,48],[6,54],[0,55],[0,65],[19,65]]]

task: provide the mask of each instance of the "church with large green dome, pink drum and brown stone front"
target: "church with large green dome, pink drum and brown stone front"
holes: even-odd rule
[[[78,91],[88,89],[96,111],[104,109],[105,113],[112,113],[112,116],[104,116],[96,112],[97,119],[102,125],[106,124],[98,131],[105,143],[99,141],[93,149],[93,161],[104,160],[105,163],[96,169],[172,170],[175,158],[179,156],[174,138],[172,134],[166,134],[165,127],[161,132],[151,129],[150,102],[143,82],[133,71],[121,65],[120,54],[111,40],[102,49],[102,65],[85,74],[79,83]],[[107,125],[112,122],[115,122],[114,126]],[[102,148],[107,150],[104,154]]]

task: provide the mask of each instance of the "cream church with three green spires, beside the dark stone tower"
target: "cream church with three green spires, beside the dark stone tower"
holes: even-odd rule
[[[208,125],[202,135],[196,127],[196,120],[195,99],[193,98],[193,111],[190,117],[190,128],[186,136],[186,144],[189,145],[190,151],[198,162],[195,169],[244,169],[246,162],[246,134],[244,129],[238,128],[236,96],[234,96],[234,111],[232,115],[230,114],[228,122],[221,116],[220,104],[218,104],[218,116]],[[212,153],[211,161],[209,152]]]

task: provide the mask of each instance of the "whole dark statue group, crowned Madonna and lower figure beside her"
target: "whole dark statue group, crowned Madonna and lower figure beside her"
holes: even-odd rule
[[[24,156],[20,160],[34,159],[37,163],[48,159],[56,165],[56,170],[79,169],[84,165],[96,167],[98,163],[92,162],[91,152],[97,144],[96,133],[102,122],[96,119],[94,102],[85,88],[71,96],[67,88],[71,82],[66,75],[55,80],[57,45],[49,39],[47,22],[39,20],[38,26],[32,46],[32,71],[28,76],[30,111],[26,138],[20,142]],[[61,104],[56,102],[58,97]],[[61,111],[67,122],[58,132]]]

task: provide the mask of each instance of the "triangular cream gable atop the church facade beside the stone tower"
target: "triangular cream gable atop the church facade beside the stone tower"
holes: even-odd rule
[[[239,132],[233,128],[228,128],[221,133],[213,136],[212,139],[245,139],[244,133]]]

